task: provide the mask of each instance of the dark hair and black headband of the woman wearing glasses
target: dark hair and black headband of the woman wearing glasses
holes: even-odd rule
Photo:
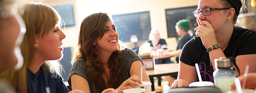
[[[246,9],[245,0],[219,0],[225,8],[234,8],[235,15],[233,16],[233,25],[238,25],[237,17],[240,13],[243,13]]]

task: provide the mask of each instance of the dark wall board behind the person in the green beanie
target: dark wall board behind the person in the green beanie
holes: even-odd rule
[[[193,11],[196,8],[197,6],[192,6],[165,10],[168,37],[178,37],[175,25],[181,19],[189,19],[191,21],[192,26],[190,26],[189,30],[192,30],[195,34],[194,28],[198,24],[196,22],[196,17],[194,16]]]

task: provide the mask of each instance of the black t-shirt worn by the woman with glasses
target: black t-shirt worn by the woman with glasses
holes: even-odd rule
[[[233,34],[227,48],[224,50],[226,57],[238,55],[256,54],[256,31],[243,29],[234,26]],[[203,81],[213,82],[213,67],[210,66],[209,53],[203,46],[199,36],[193,37],[182,49],[180,60],[190,66],[198,63],[200,74]]]

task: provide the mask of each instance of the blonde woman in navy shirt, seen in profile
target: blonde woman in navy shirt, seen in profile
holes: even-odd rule
[[[60,29],[59,14],[42,3],[25,4],[19,12],[27,29],[21,44],[24,65],[17,71],[3,71],[0,77],[11,82],[18,93],[69,92],[60,75],[62,67],[56,61],[62,56],[62,40],[66,37]]]

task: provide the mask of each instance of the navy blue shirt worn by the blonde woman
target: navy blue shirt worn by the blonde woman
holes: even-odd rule
[[[42,68],[39,69],[37,74],[33,74],[30,70],[28,72],[28,93],[46,93],[46,87],[50,88],[51,93],[69,92],[69,89],[65,86],[60,76],[52,77],[51,73]]]

